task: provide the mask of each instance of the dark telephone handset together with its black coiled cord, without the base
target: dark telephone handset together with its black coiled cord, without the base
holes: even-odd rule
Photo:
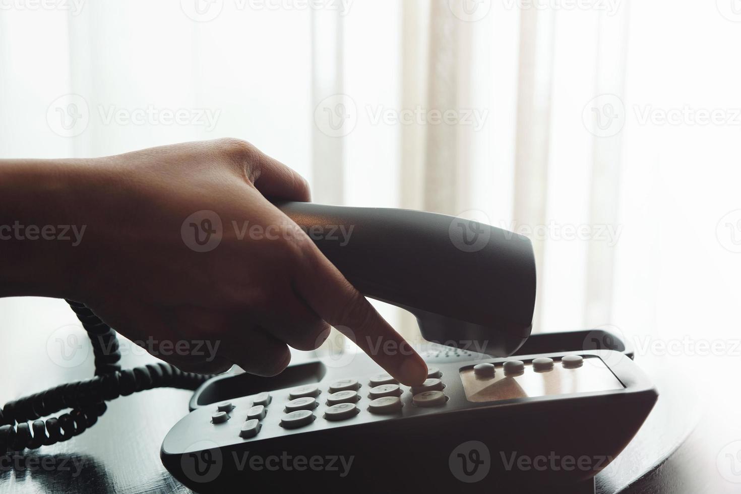
[[[366,296],[399,305],[419,321],[430,341],[508,356],[531,331],[535,264],[530,241],[462,218],[412,210],[277,204]],[[344,227],[344,243],[315,236]],[[116,332],[90,309],[69,301],[90,336],[93,378],[10,401],[0,411],[0,450],[53,444],[82,433],[119,395],[177,387],[195,390],[211,376],[160,362],[129,370],[119,365]],[[56,418],[53,413],[71,408]],[[30,422],[33,421],[33,422]]]

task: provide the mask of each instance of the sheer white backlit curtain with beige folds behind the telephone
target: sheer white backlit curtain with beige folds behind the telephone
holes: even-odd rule
[[[741,106],[723,0],[3,5],[0,156],[245,138],[316,201],[531,236],[536,330],[728,326],[739,127],[642,119]]]

